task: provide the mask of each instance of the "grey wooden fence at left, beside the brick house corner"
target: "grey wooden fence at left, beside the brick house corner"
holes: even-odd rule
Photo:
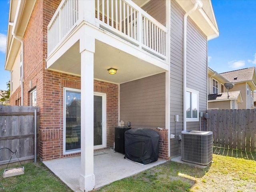
[[[39,107],[0,105],[0,148],[9,148],[21,161],[34,159],[34,112],[36,109],[36,130],[39,128]],[[38,149],[38,134],[37,149]],[[12,152],[0,150],[0,165],[9,162]],[[38,150],[37,150],[38,152]],[[13,155],[11,162],[18,159]]]

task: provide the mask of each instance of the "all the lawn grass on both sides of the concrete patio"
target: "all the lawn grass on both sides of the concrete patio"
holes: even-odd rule
[[[256,152],[214,148],[207,168],[167,162],[100,188],[99,192],[256,191]],[[253,159],[253,160],[250,160]],[[1,192],[71,192],[42,163],[24,165],[25,173],[0,177]],[[0,170],[3,174],[4,170]]]

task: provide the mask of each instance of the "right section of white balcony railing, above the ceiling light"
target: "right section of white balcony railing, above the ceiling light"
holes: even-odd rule
[[[166,58],[167,29],[132,1],[96,0],[101,27],[162,58]]]

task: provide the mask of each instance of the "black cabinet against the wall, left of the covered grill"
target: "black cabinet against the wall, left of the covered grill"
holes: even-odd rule
[[[115,127],[115,151],[124,154],[124,132],[130,127]]]

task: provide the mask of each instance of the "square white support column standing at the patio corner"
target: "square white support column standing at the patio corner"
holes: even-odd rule
[[[93,101],[94,101],[94,52],[95,39],[84,36],[80,39],[81,54],[81,170],[80,190],[95,188],[93,147]]]

